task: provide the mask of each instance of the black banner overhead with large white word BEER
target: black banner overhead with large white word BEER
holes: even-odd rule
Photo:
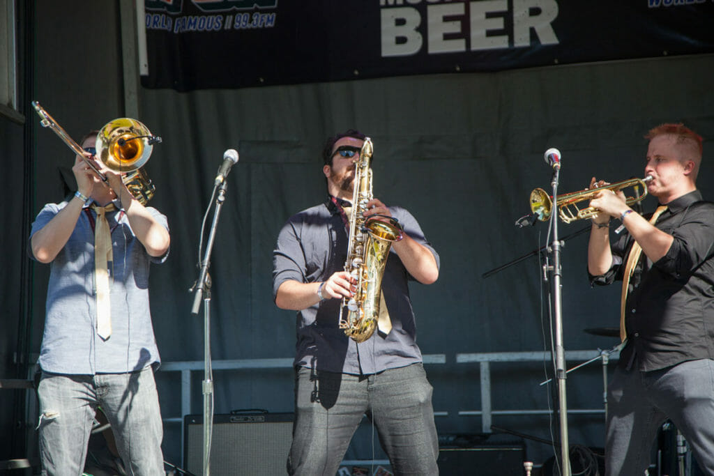
[[[714,52],[714,0],[145,0],[148,88]]]

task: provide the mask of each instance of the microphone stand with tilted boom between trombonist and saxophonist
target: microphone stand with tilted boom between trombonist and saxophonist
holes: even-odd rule
[[[201,307],[203,298],[203,476],[209,476],[211,472],[211,432],[213,430],[213,380],[211,370],[211,276],[208,274],[208,266],[211,263],[211,250],[216,237],[218,227],[218,217],[221,216],[221,207],[226,200],[226,186],[224,180],[218,187],[216,197],[216,208],[213,210],[213,223],[208,233],[208,243],[206,243],[206,253],[201,261],[201,273],[191,291],[193,295],[193,308],[191,314],[198,315],[198,308]],[[213,189],[215,193],[216,189]],[[203,233],[203,230],[201,230]],[[203,236],[203,235],[201,235]]]

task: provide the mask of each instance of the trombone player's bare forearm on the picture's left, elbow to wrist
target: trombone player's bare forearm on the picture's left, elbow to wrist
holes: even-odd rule
[[[32,254],[40,263],[49,263],[60,252],[74,231],[84,202],[73,197],[44,227],[31,238]]]

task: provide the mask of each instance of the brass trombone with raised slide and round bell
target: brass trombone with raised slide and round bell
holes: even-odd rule
[[[84,149],[64,131],[64,128],[44,110],[37,101],[32,106],[40,116],[43,127],[49,127],[91,168],[96,176],[107,182],[106,175],[84,155]],[[96,136],[96,159],[106,168],[119,173],[126,173],[121,178],[126,188],[141,205],[146,205],[154,197],[154,183],[141,166],[149,160],[154,143],[161,142],[161,137],[154,136],[149,128],[131,118],[118,118],[109,121]]]

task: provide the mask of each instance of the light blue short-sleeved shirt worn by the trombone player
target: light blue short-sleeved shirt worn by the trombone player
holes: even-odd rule
[[[32,223],[30,238],[66,205],[62,202],[44,206]],[[147,210],[169,229],[166,216],[155,208]],[[124,211],[106,215],[114,253],[114,263],[109,263],[111,337],[102,340],[96,333],[96,214],[85,207],[66,245],[50,264],[39,358],[46,372],[124,373],[159,363],[149,311],[149,264],[163,263],[169,253],[152,258],[131,231]],[[31,250],[29,254],[32,256]]]

